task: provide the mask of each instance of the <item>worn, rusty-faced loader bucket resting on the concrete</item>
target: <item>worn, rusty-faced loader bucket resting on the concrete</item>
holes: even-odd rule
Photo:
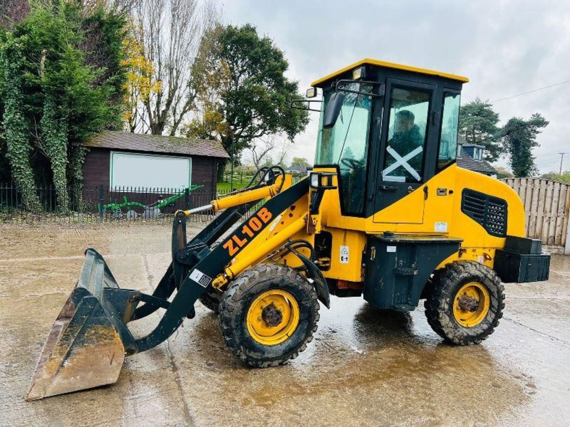
[[[26,400],[117,381],[132,340],[126,323],[137,301],[121,290],[103,257],[89,248],[78,284],[39,356]]]

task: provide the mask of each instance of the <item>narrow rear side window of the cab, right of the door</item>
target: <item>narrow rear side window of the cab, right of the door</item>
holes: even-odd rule
[[[461,147],[457,146],[457,129],[459,126],[459,93],[445,92],[443,97],[443,113],[441,115],[441,138],[439,138],[439,155],[437,170],[442,170],[461,157]]]

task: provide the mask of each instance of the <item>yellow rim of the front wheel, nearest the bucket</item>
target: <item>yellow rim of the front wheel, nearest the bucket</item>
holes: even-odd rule
[[[247,331],[260,344],[274,346],[289,338],[299,325],[299,304],[287,291],[268,290],[247,310]]]

